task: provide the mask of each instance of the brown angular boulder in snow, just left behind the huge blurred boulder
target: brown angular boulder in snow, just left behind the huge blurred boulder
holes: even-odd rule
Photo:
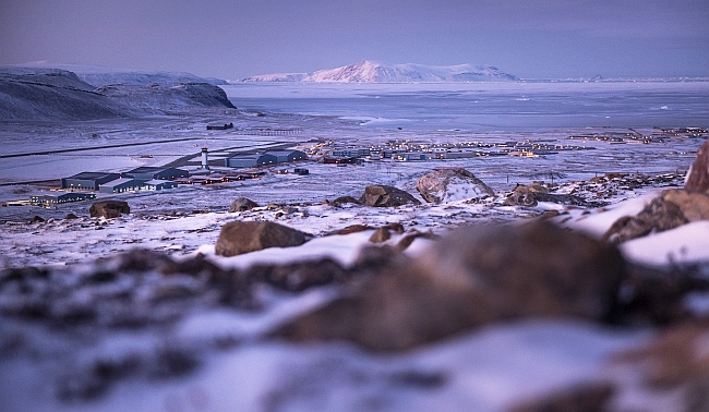
[[[267,247],[292,247],[308,241],[308,234],[272,221],[232,221],[221,227],[215,252],[236,256]]]

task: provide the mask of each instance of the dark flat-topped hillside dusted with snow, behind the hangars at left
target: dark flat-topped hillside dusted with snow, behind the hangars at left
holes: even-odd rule
[[[97,120],[170,114],[196,107],[235,108],[221,88],[194,75],[95,75],[94,81],[106,76],[100,78],[110,85],[96,88],[63,69],[0,66],[0,120]],[[185,80],[191,81],[181,82]]]

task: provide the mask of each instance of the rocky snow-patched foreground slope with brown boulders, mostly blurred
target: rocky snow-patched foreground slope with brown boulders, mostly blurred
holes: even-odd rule
[[[443,237],[238,220],[185,257],[3,270],[0,397],[17,411],[709,410],[709,262],[624,252],[709,233],[708,156],[633,207],[530,185],[508,206],[568,207]],[[434,202],[452,195],[426,182]],[[333,203],[412,201],[378,186]],[[323,245],[352,258],[311,253]]]

